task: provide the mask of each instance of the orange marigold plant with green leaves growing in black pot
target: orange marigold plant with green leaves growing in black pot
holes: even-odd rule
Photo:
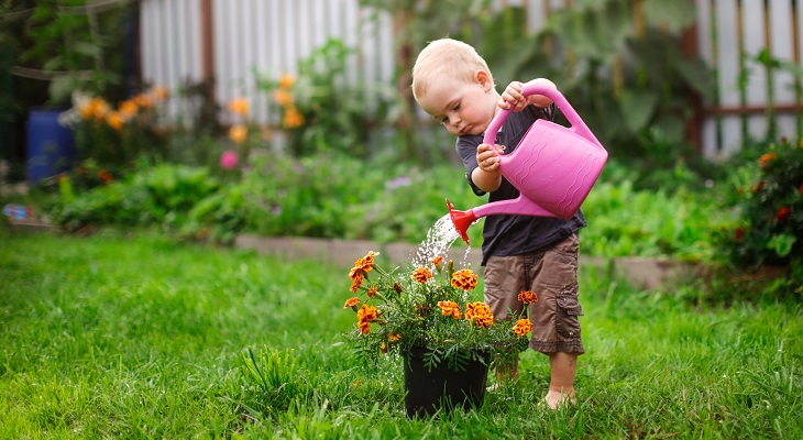
[[[495,362],[504,362],[527,348],[532,324],[495,321],[491,308],[475,298],[477,275],[471,268],[455,271],[453,261],[438,256],[411,270],[385,271],[376,264],[378,255],[372,251],[354,262],[352,295],[343,304],[356,315],[346,339],[366,359],[424,346],[435,352],[430,366],[446,361],[460,370],[472,359],[466,356],[492,352]]]

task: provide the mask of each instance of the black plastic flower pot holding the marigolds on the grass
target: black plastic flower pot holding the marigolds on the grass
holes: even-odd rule
[[[414,346],[404,353],[405,410],[409,418],[424,418],[449,413],[462,407],[465,410],[481,407],[485,399],[491,353],[481,352],[484,363],[470,360],[464,370],[449,369],[446,361],[429,370],[425,354],[429,350]]]

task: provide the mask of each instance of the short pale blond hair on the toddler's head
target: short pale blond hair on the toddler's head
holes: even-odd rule
[[[477,70],[485,72],[494,80],[487,63],[474,47],[458,40],[436,40],[418,54],[413,66],[413,96],[416,101],[422,98],[435,77],[447,76],[454,80],[474,82]]]

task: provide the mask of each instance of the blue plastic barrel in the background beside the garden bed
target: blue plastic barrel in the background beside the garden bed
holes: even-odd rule
[[[73,130],[58,123],[59,109],[35,109],[28,116],[28,183],[68,170],[76,160]]]

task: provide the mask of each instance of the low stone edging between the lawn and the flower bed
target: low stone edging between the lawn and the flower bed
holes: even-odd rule
[[[234,240],[234,246],[242,250],[254,250],[262,255],[279,256],[288,260],[324,258],[336,265],[351,266],[354,261],[369,251],[381,252],[393,263],[399,264],[410,261],[418,252],[417,244],[409,243],[376,243],[367,240],[336,240],[310,239],[297,237],[260,237],[240,234]],[[462,261],[465,249],[450,249],[449,257]],[[480,267],[481,251],[469,251],[466,262],[472,267]],[[672,260],[656,260],[641,257],[601,257],[580,256],[580,266],[591,267],[601,272],[612,272],[618,277],[641,288],[671,287],[672,284],[689,279],[700,273],[700,267],[690,263]]]

